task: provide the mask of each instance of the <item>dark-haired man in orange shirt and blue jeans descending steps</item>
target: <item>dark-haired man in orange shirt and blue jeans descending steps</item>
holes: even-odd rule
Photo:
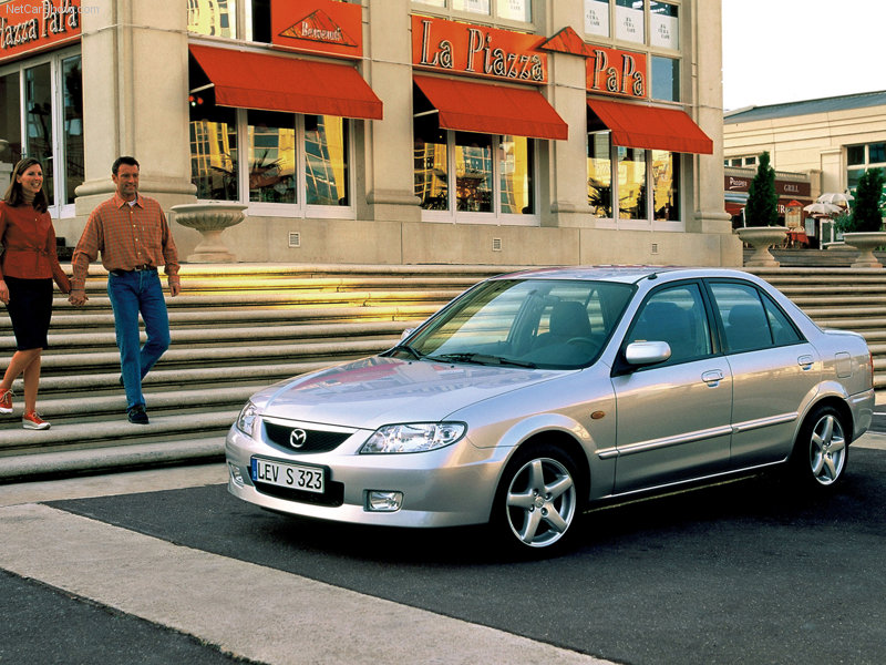
[[[147,424],[142,379],[169,347],[169,317],[157,267],[165,266],[169,295],[177,296],[178,253],[159,203],[138,194],[138,162],[119,157],[111,174],[116,193],[92,211],[76,244],[69,300],[72,305],[86,301],[89,266],[101,252],[109,272],[107,295],[114,309],[126,415],[130,422]],[[144,347],[138,337],[140,314],[147,334]]]

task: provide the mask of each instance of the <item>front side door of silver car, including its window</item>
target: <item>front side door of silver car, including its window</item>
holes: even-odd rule
[[[700,478],[728,468],[732,375],[714,356],[701,287],[655,291],[625,340],[667,341],[668,361],[616,376],[616,492]]]

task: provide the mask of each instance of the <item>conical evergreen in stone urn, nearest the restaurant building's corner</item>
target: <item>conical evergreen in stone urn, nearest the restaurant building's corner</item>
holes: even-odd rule
[[[787,236],[787,228],[779,226],[779,195],[775,193],[775,170],[770,165],[769,152],[760,155],[756,175],[748,190],[748,203],[744,206],[743,228],[736,233],[742,243],[754,248],[753,255],[744,262],[746,266],[777,267],[769,248],[781,244]]]

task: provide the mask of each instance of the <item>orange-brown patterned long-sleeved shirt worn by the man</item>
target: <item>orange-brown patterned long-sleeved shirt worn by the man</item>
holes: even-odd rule
[[[147,196],[138,194],[130,205],[115,193],[92,211],[71,259],[73,288],[83,288],[100,250],[107,270],[166,266],[169,280],[178,280],[178,252],[169,224],[159,203]]]

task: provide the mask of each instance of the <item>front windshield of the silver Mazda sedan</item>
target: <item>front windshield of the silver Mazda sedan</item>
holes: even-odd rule
[[[494,279],[392,350],[409,359],[544,369],[591,365],[633,287],[579,279]]]

